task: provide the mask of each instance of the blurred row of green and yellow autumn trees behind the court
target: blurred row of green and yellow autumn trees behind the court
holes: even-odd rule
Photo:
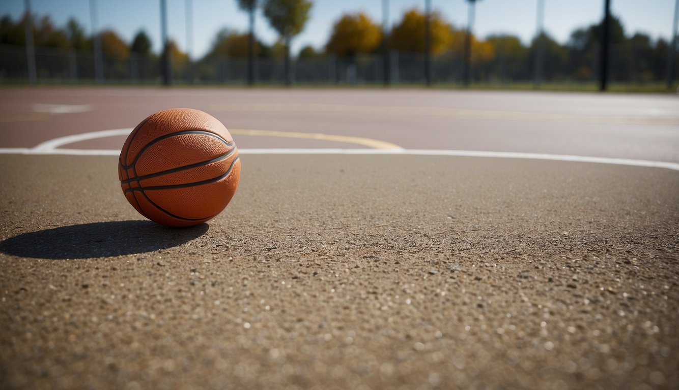
[[[224,28],[217,32],[212,45],[202,58],[193,62],[174,41],[168,41],[166,50],[175,66],[196,66],[196,72],[215,72],[207,66],[218,58],[276,58],[285,61],[289,74],[291,40],[304,29],[312,3],[308,0],[238,0],[241,9],[250,16],[251,30],[239,32]],[[268,45],[253,34],[255,9],[263,7],[263,14],[280,39]],[[422,54],[426,50],[425,24],[427,16],[420,9],[409,9],[387,34],[382,26],[362,12],[340,16],[322,48],[310,45],[297,53],[298,60],[325,58],[329,55],[348,59],[348,64],[361,56],[381,56],[385,51]],[[36,47],[92,51],[94,37],[71,18],[64,26],[56,26],[49,16],[32,18],[33,39]],[[0,20],[0,44],[25,45],[25,28],[28,16],[18,20],[3,16]],[[464,51],[466,30],[456,28],[439,12],[429,16],[430,53],[434,58],[460,58]],[[542,77],[550,81],[591,81],[595,77],[602,36],[602,23],[577,28],[566,43],[559,43],[543,32],[529,43],[515,35],[490,35],[481,39],[472,35],[471,52],[474,79],[492,81],[501,77],[507,81],[526,81],[534,76],[536,56],[540,53]],[[107,58],[158,61],[149,35],[144,30],[136,32],[131,41],[125,41],[113,30],[103,30],[97,36],[103,55]],[[670,43],[654,40],[640,32],[628,34],[619,18],[610,24],[610,79],[612,81],[647,83],[665,78]],[[385,50],[386,49],[386,50]],[[162,48],[160,48],[162,50]],[[253,75],[248,75],[253,82]]]

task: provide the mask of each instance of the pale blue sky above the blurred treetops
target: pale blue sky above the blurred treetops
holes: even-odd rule
[[[247,14],[240,11],[236,0],[166,0],[168,7],[168,35],[192,58],[202,57],[222,28],[245,32]],[[537,3],[539,0],[479,0],[476,5],[474,32],[486,37],[497,33],[517,35],[524,43],[536,33]],[[566,43],[572,30],[601,20],[604,0],[543,0],[545,30],[551,37]],[[398,24],[407,9],[424,9],[424,0],[388,0],[389,23]],[[92,31],[90,3],[96,6],[98,30],[111,28],[130,42],[144,29],[153,41],[153,50],[160,48],[160,0],[31,0],[33,14],[49,15],[57,25],[76,18],[88,32]],[[310,20],[304,31],[293,39],[293,53],[312,45],[322,48],[333,24],[342,14],[365,12],[373,21],[382,24],[384,0],[312,0]],[[457,28],[467,23],[469,5],[466,0],[431,0],[432,8]],[[672,36],[672,22],[676,0],[611,0],[612,13],[619,16],[629,35],[644,32],[653,39]],[[188,8],[187,8],[188,7]],[[187,9],[191,9],[192,39],[187,39]],[[0,15],[20,18],[24,0],[0,0]],[[278,38],[261,12],[255,20],[255,34],[265,43]],[[188,45],[187,45],[188,43]]]

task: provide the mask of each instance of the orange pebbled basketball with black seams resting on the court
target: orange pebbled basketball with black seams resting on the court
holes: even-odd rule
[[[240,179],[238,149],[213,116],[191,108],[156,112],[130,133],[118,177],[141,215],[172,227],[198,225],[229,204]]]

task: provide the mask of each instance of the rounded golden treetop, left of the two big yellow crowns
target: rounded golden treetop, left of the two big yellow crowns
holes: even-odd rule
[[[356,53],[372,51],[381,40],[382,28],[366,14],[344,14],[335,22],[326,48],[337,56],[353,57]]]

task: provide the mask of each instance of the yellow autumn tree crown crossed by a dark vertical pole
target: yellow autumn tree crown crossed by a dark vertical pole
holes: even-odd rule
[[[403,14],[403,20],[391,33],[390,47],[398,51],[424,53],[424,24],[426,16],[418,9],[410,9]],[[450,49],[453,43],[452,26],[439,14],[433,12],[430,18],[431,53],[441,54]]]

